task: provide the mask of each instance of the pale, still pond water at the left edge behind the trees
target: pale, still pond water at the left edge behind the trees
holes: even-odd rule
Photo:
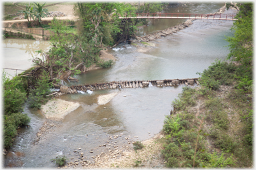
[[[46,52],[49,50],[49,46],[49,41],[5,39],[2,41],[2,67],[26,70],[32,66],[33,57],[41,57],[36,51],[42,50],[43,52]],[[17,70],[17,74],[23,72],[21,70]],[[15,70],[5,69],[5,72],[11,76],[15,76]]]

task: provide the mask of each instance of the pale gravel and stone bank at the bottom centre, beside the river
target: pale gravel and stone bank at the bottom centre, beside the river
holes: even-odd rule
[[[163,137],[160,133],[155,135],[153,138],[143,141],[145,147],[143,149],[135,151],[129,145],[117,145],[117,140],[126,139],[128,144],[135,143],[129,138],[131,136],[125,136],[123,134],[109,136],[109,138],[115,141],[107,141],[109,147],[101,147],[101,151],[96,153],[89,153],[88,157],[81,153],[75,153],[74,157],[67,162],[67,166],[64,168],[130,168],[134,166],[134,160],[142,158],[141,161],[145,168],[149,167],[165,167],[163,158],[161,157],[161,143],[156,142],[157,139]],[[137,137],[137,136],[135,136]],[[110,144],[111,143],[111,144]],[[101,144],[103,146],[105,144]],[[83,150],[83,149],[81,149]],[[91,149],[93,151],[94,149]],[[149,161],[150,159],[150,161]]]

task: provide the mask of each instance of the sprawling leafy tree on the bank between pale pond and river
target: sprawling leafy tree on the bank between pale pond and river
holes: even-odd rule
[[[61,75],[67,79],[72,74],[79,74],[81,68],[85,69],[99,61],[100,48],[95,46],[92,39],[88,41],[85,35],[67,34],[67,26],[55,18],[50,25],[53,30],[51,49],[49,52],[38,51],[43,58],[35,58],[33,62],[49,68],[51,79],[60,78]]]

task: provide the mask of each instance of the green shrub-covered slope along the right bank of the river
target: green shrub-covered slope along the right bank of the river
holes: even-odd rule
[[[252,4],[243,3],[227,37],[228,59],[216,60],[198,88],[183,88],[163,125],[167,167],[251,167],[253,161]]]

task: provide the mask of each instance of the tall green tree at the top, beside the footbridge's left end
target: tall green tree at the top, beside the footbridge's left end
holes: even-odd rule
[[[83,27],[80,33],[95,46],[113,45],[117,33],[120,33],[119,15],[135,15],[135,7],[127,3],[77,3],[77,14]]]

